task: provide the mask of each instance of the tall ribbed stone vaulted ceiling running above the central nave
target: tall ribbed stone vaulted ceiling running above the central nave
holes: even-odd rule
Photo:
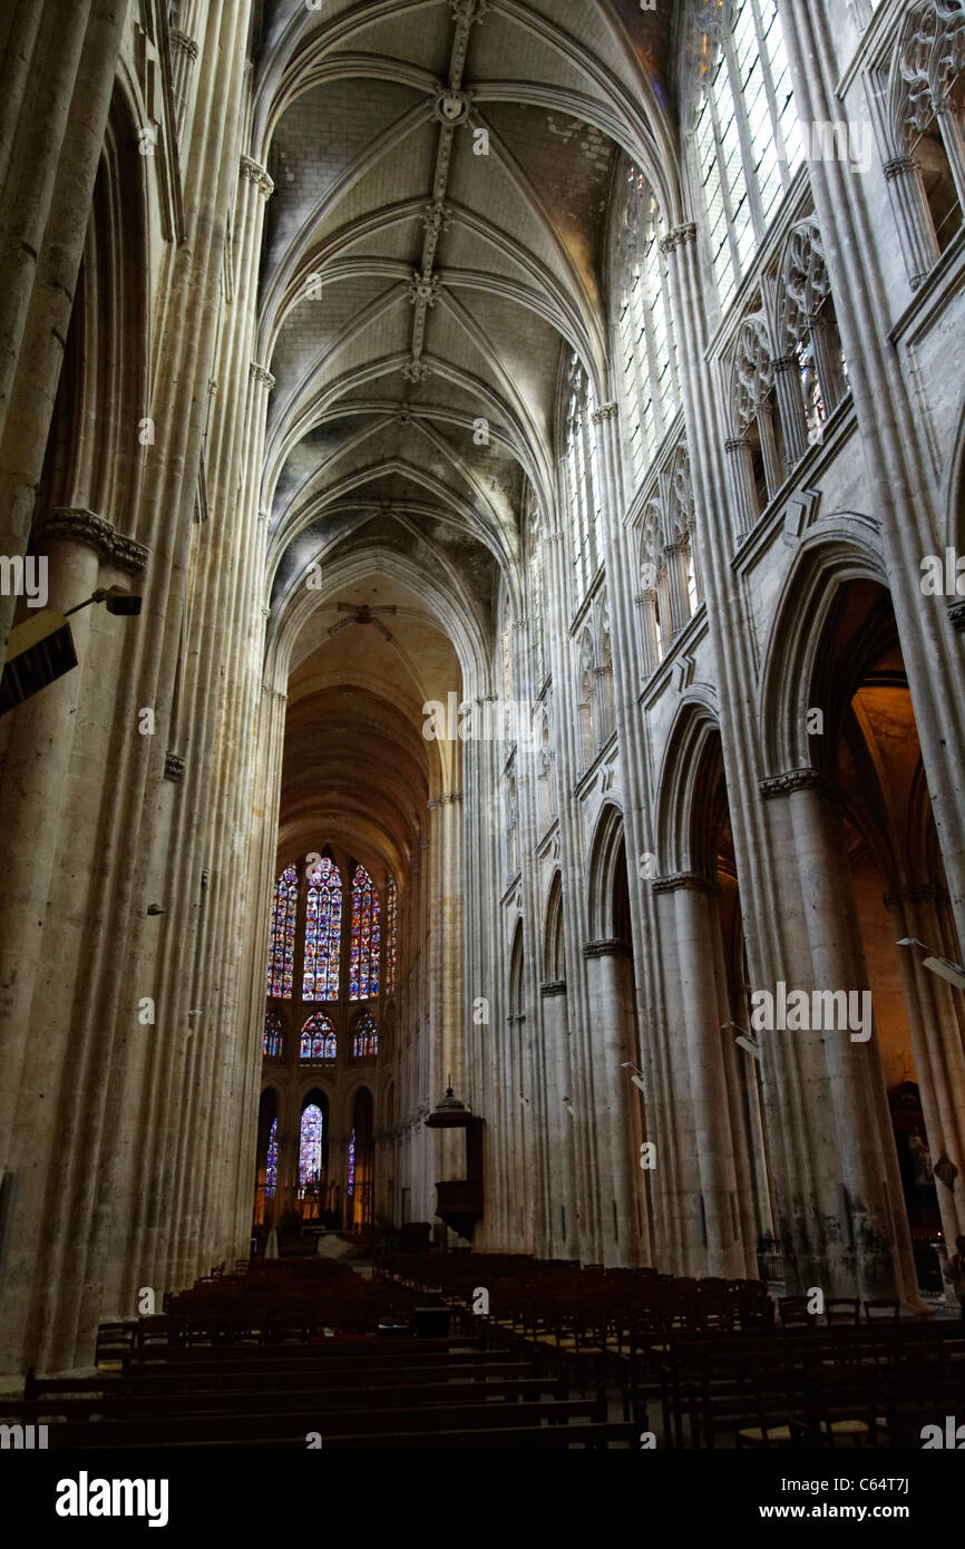
[[[383,857],[417,844],[400,790],[378,784],[420,751],[409,739],[401,757],[384,702],[401,692],[417,731],[420,696],[458,691],[468,643],[491,647],[500,581],[519,587],[527,489],[537,510],[551,500],[564,361],[576,353],[606,390],[621,155],[674,187],[672,19],[669,0],[265,3],[252,155],[276,191],[257,359],[276,386],[262,510],[274,624],[302,620],[283,799],[299,830],[325,784],[313,798],[304,756],[319,726],[347,725],[342,674],[381,792],[342,770],[345,826],[381,801]],[[314,618],[313,562],[335,578]],[[398,604],[393,641],[372,626],[333,640],[339,603]],[[434,629],[455,647],[445,669]],[[349,637],[364,660],[345,655]],[[426,765],[423,744],[418,784],[438,785]]]

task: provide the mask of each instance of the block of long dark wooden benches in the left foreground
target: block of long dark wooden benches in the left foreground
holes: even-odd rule
[[[37,1379],[6,1422],[50,1448],[609,1448],[637,1445],[607,1396],[572,1396],[531,1358],[474,1340],[366,1338],[271,1351],[146,1348],[121,1372]]]

